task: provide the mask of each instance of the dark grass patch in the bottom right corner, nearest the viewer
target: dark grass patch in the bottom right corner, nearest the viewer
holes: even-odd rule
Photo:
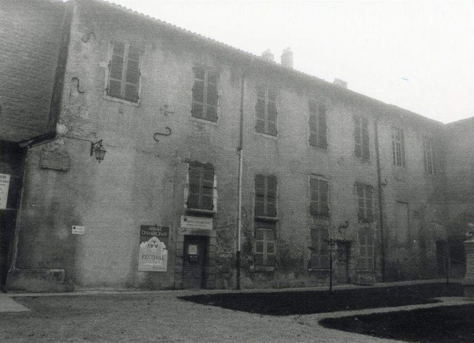
[[[407,342],[474,342],[474,305],[327,318],[332,329]]]

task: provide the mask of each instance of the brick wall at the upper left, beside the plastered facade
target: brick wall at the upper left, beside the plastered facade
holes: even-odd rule
[[[5,0],[0,7],[0,139],[47,131],[64,3]]]

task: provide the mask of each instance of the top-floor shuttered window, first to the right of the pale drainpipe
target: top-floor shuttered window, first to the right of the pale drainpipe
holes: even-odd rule
[[[277,135],[277,93],[265,86],[257,87],[257,119],[255,131]]]

